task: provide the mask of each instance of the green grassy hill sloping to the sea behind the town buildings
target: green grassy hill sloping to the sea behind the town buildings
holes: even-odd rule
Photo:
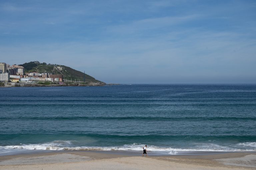
[[[84,74],[81,71],[77,71],[65,65],[57,65],[57,64],[46,64],[40,63],[38,61],[31,61],[29,63],[20,64],[25,68],[26,73],[38,72],[38,73],[54,73],[54,74],[62,74],[65,80],[76,80],[76,81],[85,81],[93,82],[93,83],[104,83],[102,81],[96,80],[94,77]]]

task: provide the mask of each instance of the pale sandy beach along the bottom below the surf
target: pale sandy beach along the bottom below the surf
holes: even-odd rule
[[[256,154],[241,152],[214,155],[127,156],[95,152],[59,152],[0,157],[1,170],[84,169],[256,169]]]

